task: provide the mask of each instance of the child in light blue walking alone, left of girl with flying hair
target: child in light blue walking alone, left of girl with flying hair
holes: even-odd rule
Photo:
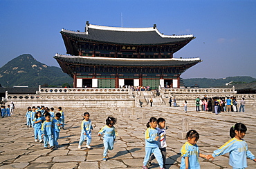
[[[84,112],[84,119],[81,123],[81,137],[80,141],[78,144],[78,148],[81,149],[82,143],[84,140],[87,138],[86,141],[86,148],[91,148],[90,143],[91,143],[91,130],[93,130],[93,126],[91,126],[91,120],[89,120],[90,114],[89,112]]]

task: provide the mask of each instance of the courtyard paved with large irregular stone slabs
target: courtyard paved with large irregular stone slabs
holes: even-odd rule
[[[34,142],[33,129],[26,127],[26,110],[17,109],[15,115],[0,119],[0,168],[142,168],[145,155],[144,131],[145,121],[149,117],[163,117],[167,126],[167,168],[179,168],[181,162],[180,148],[185,140],[178,138],[182,131],[181,120],[188,117],[190,129],[195,129],[200,134],[198,146],[201,153],[209,155],[223,143],[230,139],[229,129],[236,122],[246,124],[248,131],[245,140],[248,148],[256,155],[256,117],[255,110],[246,108],[246,112],[223,112],[214,115],[211,112],[195,112],[188,108],[188,113],[183,108],[170,108],[167,106],[153,106],[152,108],[136,108],[134,115],[132,109],[124,108],[63,108],[66,126],[60,131],[60,148],[57,150],[44,149],[43,143]],[[80,123],[82,114],[90,112],[94,130],[92,132],[91,150],[84,145],[77,149],[80,139]],[[18,112],[20,114],[18,114]],[[145,112],[143,118],[143,112]],[[128,113],[130,117],[128,117]],[[109,151],[109,160],[101,161],[103,152],[102,138],[97,133],[107,116],[118,119],[116,130],[118,137],[114,149]],[[132,117],[132,118],[131,118]],[[138,118],[136,118],[138,117]],[[131,118],[131,119],[130,119]],[[256,168],[256,163],[248,161],[248,169]],[[200,158],[201,168],[230,168],[228,155],[217,157],[214,161]],[[151,168],[158,168],[154,161]]]

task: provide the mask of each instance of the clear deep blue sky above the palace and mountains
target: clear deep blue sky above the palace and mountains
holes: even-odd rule
[[[181,77],[256,78],[256,1],[238,0],[0,0],[0,67],[21,54],[57,66],[65,54],[60,31],[94,25],[141,28],[196,39],[174,57],[202,62]],[[122,16],[122,17],[121,17]],[[122,18],[122,19],[121,19]]]

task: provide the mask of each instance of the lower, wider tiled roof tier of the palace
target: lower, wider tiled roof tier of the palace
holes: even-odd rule
[[[192,59],[124,59],[106,57],[80,57],[56,54],[55,59],[66,63],[96,66],[187,66],[201,62],[200,58]]]

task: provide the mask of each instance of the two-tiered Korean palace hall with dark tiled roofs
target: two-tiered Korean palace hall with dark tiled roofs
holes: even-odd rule
[[[180,87],[180,76],[201,62],[199,57],[174,58],[175,52],[195,37],[164,35],[151,28],[119,28],[92,25],[84,32],[62,29],[67,54],[55,54],[74,88],[120,88],[159,85]]]

